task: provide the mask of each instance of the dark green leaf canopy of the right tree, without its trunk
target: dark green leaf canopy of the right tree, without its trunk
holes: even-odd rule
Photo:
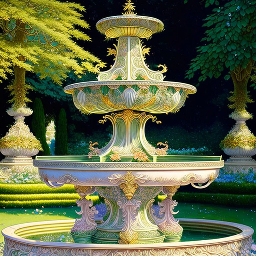
[[[203,25],[209,28],[202,39],[205,44],[197,48],[199,53],[192,59],[188,78],[196,71],[201,71],[199,81],[218,78],[225,68],[246,68],[250,60],[256,60],[255,5],[256,1],[232,0],[213,9]],[[229,77],[227,74],[225,79]]]

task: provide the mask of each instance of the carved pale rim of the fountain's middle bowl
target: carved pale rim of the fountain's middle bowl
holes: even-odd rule
[[[90,87],[90,86],[108,86],[108,85],[127,85],[127,86],[132,86],[132,85],[160,85],[160,86],[166,86],[166,87],[178,87],[178,88],[184,88],[184,89],[189,89],[190,92],[189,94],[196,93],[196,87],[190,84],[185,84],[185,83],[179,83],[179,82],[169,82],[169,81],[151,81],[151,80],[107,80],[107,81],[89,81],[89,82],[80,82],[80,83],[75,83],[75,84],[70,84],[64,87],[64,92],[72,94],[72,89],[77,89],[77,88],[83,88],[83,87]]]

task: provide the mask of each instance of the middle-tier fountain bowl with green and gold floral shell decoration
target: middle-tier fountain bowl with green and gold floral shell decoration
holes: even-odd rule
[[[71,84],[64,91],[72,94],[75,106],[85,114],[124,109],[160,114],[179,110],[196,88],[168,81],[111,80]]]

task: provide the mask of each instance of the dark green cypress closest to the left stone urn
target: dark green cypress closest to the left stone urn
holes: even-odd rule
[[[42,101],[39,98],[35,98],[33,105],[33,115],[32,115],[32,131],[36,138],[40,141],[43,148],[43,155],[51,155],[49,145],[46,142],[45,137],[45,117],[44,108]]]

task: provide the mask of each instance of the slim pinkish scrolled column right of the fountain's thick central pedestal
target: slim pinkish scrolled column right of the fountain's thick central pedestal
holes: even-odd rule
[[[178,202],[172,199],[179,187],[163,187],[163,192],[167,197],[161,203],[158,202],[160,206],[158,215],[161,217],[151,214],[159,230],[165,234],[165,242],[178,242],[182,236],[183,228],[179,224],[179,220],[173,217],[174,214],[179,212],[174,212],[174,208],[178,205]]]

